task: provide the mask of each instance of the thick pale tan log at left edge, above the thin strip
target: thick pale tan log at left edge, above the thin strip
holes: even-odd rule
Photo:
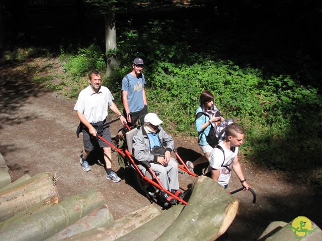
[[[51,173],[39,173],[0,193],[0,221],[4,221],[46,199],[58,196]]]

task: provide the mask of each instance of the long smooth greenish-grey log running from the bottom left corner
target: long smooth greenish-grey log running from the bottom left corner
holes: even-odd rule
[[[90,189],[0,229],[0,240],[42,241],[104,204],[102,193]]]

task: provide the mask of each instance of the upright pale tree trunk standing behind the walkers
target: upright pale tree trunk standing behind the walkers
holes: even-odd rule
[[[104,15],[105,22],[105,48],[106,52],[116,49],[116,29],[115,29],[115,13]],[[105,78],[109,77],[115,67],[118,67],[120,62],[115,54],[107,54],[107,65]]]

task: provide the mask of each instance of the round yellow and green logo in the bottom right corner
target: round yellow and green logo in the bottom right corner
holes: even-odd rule
[[[319,227],[315,227],[313,230],[311,230],[312,225],[314,225],[314,223],[312,223],[310,219],[308,219],[307,217],[298,216],[292,221],[291,226],[286,227],[290,227],[293,229],[296,238],[303,239],[306,236],[306,234],[311,234],[316,229],[320,229]]]

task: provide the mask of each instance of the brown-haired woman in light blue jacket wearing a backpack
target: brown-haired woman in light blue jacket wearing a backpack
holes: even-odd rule
[[[204,156],[199,157],[194,162],[187,161],[187,166],[191,172],[193,172],[196,165],[209,162],[209,156],[213,147],[209,145],[206,137],[209,134],[211,125],[216,129],[216,125],[223,119],[220,111],[213,103],[213,99],[214,96],[209,90],[203,91],[199,98],[200,106],[196,110],[195,124],[198,132],[198,143]]]

